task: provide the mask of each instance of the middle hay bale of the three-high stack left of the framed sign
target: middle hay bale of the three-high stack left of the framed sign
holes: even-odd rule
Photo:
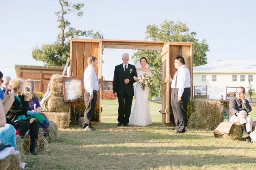
[[[70,104],[64,102],[63,97],[52,96],[47,101],[47,108],[49,112],[68,112]]]

